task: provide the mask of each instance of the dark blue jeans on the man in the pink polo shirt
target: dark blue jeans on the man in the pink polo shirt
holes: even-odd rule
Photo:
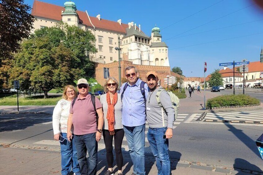
[[[96,175],[98,162],[96,133],[75,135],[74,137],[81,175]],[[88,159],[86,157],[87,151],[89,154]]]

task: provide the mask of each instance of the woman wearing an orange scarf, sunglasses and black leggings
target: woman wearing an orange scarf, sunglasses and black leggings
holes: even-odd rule
[[[123,155],[122,155],[122,142],[124,137],[122,125],[122,101],[121,95],[117,93],[119,84],[114,77],[106,79],[104,90],[106,94],[100,96],[100,103],[102,104],[104,112],[104,125],[102,134],[106,148],[106,158],[108,162],[108,170],[104,175],[112,175],[113,172],[113,146],[112,141],[114,138],[114,150],[116,153],[116,163],[118,167],[118,175],[123,175]]]

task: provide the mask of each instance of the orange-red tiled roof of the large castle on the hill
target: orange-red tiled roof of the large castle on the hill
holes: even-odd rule
[[[49,4],[46,2],[34,0],[31,15],[60,21],[62,19],[61,10],[65,11],[65,8],[54,4]],[[77,13],[78,13],[79,21],[82,24],[85,24],[89,27],[93,27],[87,17],[86,12],[77,10]],[[92,24],[96,28],[106,29],[110,31],[126,33],[126,28],[129,27],[128,24],[120,25],[118,22],[104,20],[104,19],[99,20],[98,18],[92,16],[90,16],[90,19]]]

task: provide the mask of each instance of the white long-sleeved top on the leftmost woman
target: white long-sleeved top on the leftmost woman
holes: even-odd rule
[[[55,106],[52,116],[54,135],[58,133],[67,133],[70,104],[71,102],[68,100],[61,99]],[[74,127],[72,126],[71,133],[73,133],[73,131]]]

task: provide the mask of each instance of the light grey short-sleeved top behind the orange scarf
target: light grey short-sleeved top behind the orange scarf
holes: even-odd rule
[[[103,113],[104,113],[104,124],[102,129],[109,129],[108,127],[108,119],[107,119],[107,112],[108,112],[108,103],[106,100],[106,95],[107,94],[102,94],[100,96],[100,103],[103,108]],[[123,109],[123,103],[121,101],[121,94],[118,94],[118,101],[114,106],[115,109],[115,124],[114,124],[114,129],[123,129],[123,124],[122,124],[122,109]]]

